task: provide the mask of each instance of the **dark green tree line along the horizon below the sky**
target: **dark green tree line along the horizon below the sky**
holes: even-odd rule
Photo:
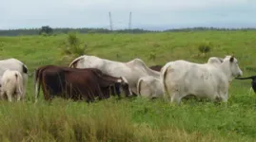
[[[192,27],[192,28],[173,28],[167,30],[145,30],[140,28],[109,30],[107,28],[51,28],[44,26],[41,28],[5,29],[0,30],[0,36],[18,35],[56,35],[67,34],[69,32],[80,33],[146,33],[146,32],[169,32],[169,31],[196,31],[196,30],[256,30],[256,28],[217,28],[217,27]]]

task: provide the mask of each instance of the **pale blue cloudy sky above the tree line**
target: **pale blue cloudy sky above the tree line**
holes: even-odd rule
[[[256,27],[256,0],[1,0],[0,29]]]

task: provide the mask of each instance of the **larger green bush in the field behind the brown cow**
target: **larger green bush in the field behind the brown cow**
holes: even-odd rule
[[[75,32],[69,32],[68,38],[62,46],[62,54],[81,56],[86,53],[87,47],[87,44],[81,44]]]

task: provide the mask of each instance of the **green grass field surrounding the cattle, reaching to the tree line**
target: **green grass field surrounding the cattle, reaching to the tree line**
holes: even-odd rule
[[[30,74],[45,64],[68,65],[60,46],[67,35],[0,37],[1,59],[25,62]],[[83,34],[88,55],[149,65],[174,60],[207,62],[210,56],[235,54],[244,76],[255,75],[255,31],[194,31],[148,34]],[[199,56],[198,45],[211,52]],[[155,60],[150,60],[155,57]],[[254,69],[255,68],[255,69]],[[0,102],[1,141],[256,141],[256,95],[250,80],[233,80],[227,107],[209,101],[183,100],[170,106],[162,98],[109,98],[91,104],[43,95],[33,104],[32,76],[25,102]]]

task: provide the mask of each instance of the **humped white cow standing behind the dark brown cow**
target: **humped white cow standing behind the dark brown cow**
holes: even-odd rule
[[[160,73],[148,68],[145,62],[134,59],[130,62],[115,62],[95,56],[80,56],[69,64],[74,68],[97,68],[103,73],[113,77],[125,77],[130,90],[137,94],[136,84],[142,77],[153,76],[160,79]]]

